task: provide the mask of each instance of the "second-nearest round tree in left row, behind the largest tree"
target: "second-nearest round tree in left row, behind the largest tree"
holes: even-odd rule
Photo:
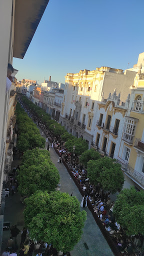
[[[59,173],[55,165],[44,159],[38,165],[23,164],[18,170],[18,191],[23,196],[29,196],[37,190],[46,190],[48,193],[55,190],[59,182]]]

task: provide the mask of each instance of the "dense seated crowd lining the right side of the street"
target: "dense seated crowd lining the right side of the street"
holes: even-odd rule
[[[55,147],[58,150],[60,155],[58,158],[58,162],[60,163],[61,159],[64,159],[67,166],[71,169],[74,178],[78,181],[79,185],[83,189],[85,195],[82,198],[80,204],[81,207],[87,206],[88,199],[93,207],[93,211],[97,214],[103,226],[105,227],[107,232],[109,232],[109,235],[115,242],[117,249],[121,253],[124,253],[124,255],[130,255],[130,253],[132,253],[133,251],[134,246],[137,246],[138,243],[139,247],[141,246],[143,242],[143,236],[139,235],[138,238],[136,238],[136,235],[133,237],[126,236],[124,230],[116,222],[115,217],[113,215],[114,201],[111,200],[110,193],[106,191],[104,192],[99,183],[96,186],[90,184],[87,177],[86,168],[83,168],[83,166],[79,164],[78,157],[73,158],[73,155],[70,152],[68,152],[68,150],[64,146],[64,141],[61,140],[60,136],[54,136],[52,132],[48,130],[48,127],[45,126],[44,123],[42,123],[41,119],[38,116],[36,116],[36,114],[32,112],[31,109],[27,107],[27,105],[23,104],[20,98],[19,102],[21,106],[24,108],[24,110],[27,112],[28,116],[31,117],[32,120],[36,123],[36,125],[38,125],[42,129],[41,135],[45,135],[46,142],[48,142],[48,140],[51,141],[50,145],[48,142],[47,150],[50,150],[50,147]],[[38,253],[42,252],[39,251]],[[133,255],[138,255],[138,249],[137,254]],[[19,256],[22,256],[22,254]],[[37,254],[37,256],[41,256],[41,254]]]

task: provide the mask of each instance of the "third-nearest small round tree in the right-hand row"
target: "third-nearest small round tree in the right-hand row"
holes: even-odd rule
[[[97,160],[100,158],[100,154],[95,151],[93,148],[84,151],[79,157],[79,162],[87,167],[87,162],[89,160]]]

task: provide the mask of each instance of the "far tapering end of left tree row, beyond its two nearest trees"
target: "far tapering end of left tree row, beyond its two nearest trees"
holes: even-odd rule
[[[16,124],[18,127],[18,141],[16,146],[20,152],[36,146],[40,148],[44,147],[45,139],[40,136],[38,128],[18,102],[16,104]]]

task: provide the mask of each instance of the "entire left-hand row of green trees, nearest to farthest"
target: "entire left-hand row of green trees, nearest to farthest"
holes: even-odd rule
[[[52,243],[57,250],[72,250],[81,238],[86,212],[80,211],[75,196],[55,191],[59,182],[58,170],[49,151],[38,148],[44,147],[45,139],[19,104],[16,114],[17,147],[23,151],[17,170],[18,191],[26,197],[24,221],[30,237]],[[41,115],[40,110],[38,114]]]

